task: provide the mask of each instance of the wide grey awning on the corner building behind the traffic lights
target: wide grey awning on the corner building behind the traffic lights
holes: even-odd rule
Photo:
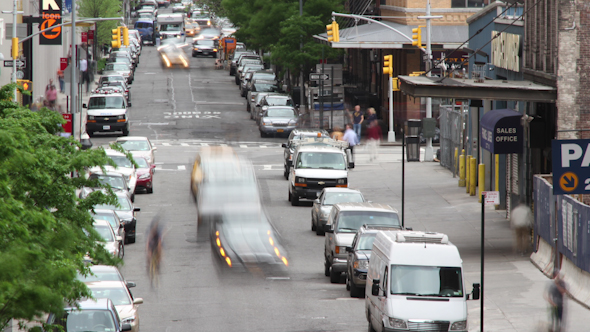
[[[405,25],[382,21],[382,23],[398,30],[400,33],[412,38],[412,29],[417,26]],[[426,30],[426,29],[424,29]],[[423,35],[426,31],[423,32]],[[323,43],[329,43],[327,34],[322,33],[313,36]],[[432,44],[440,45],[444,49],[459,47],[469,39],[469,27],[466,25],[437,25],[432,28]],[[426,40],[422,41],[426,43]],[[367,23],[350,28],[340,29],[340,41],[331,43],[332,48],[366,48],[366,49],[392,49],[414,47],[412,41],[404,38],[399,33],[380,24]],[[439,47],[439,46],[437,46]]]

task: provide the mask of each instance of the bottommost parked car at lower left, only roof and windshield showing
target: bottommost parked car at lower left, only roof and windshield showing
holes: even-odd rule
[[[131,324],[119,318],[113,301],[108,298],[88,299],[66,305],[64,312],[49,314],[47,324],[58,325],[64,332],[132,330]],[[57,328],[52,332],[58,331],[61,330]]]

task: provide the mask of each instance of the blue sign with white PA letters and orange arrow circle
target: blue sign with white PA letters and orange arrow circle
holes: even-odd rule
[[[553,140],[553,194],[590,194],[590,139]]]

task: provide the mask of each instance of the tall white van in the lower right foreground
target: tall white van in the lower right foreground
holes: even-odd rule
[[[462,262],[445,234],[380,231],[365,288],[369,331],[467,331]]]

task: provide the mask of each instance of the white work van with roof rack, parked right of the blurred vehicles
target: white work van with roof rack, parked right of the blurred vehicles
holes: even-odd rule
[[[348,187],[348,143],[330,138],[322,145],[317,142],[299,142],[295,150],[289,173],[289,201],[293,206],[299,205],[300,198],[316,199],[326,187]]]

